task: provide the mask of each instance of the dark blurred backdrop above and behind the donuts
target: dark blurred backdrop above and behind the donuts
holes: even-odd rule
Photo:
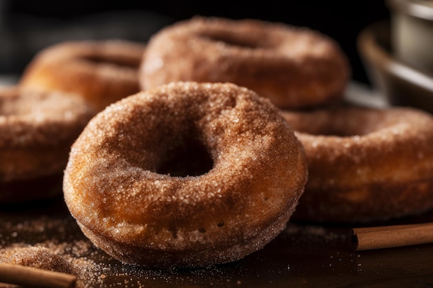
[[[3,56],[3,61],[0,62],[0,73],[19,73],[37,50],[55,41],[80,37],[109,37],[110,34],[107,31],[111,28],[108,29],[107,26],[99,24],[98,28],[94,28],[98,17],[100,21],[105,22],[109,21],[107,19],[119,19],[114,24],[118,29],[111,29],[112,35],[118,36],[124,33],[122,36],[125,38],[147,41],[151,34],[169,23],[188,19],[194,15],[203,15],[279,21],[319,30],[338,41],[342,50],[347,54],[353,70],[352,78],[368,84],[369,79],[356,48],[356,39],[362,28],[389,18],[387,5],[380,0],[263,0],[256,4],[252,1],[228,0],[0,0],[0,3],[0,32],[3,30],[3,35],[6,35],[1,37],[0,41],[3,50],[9,52],[9,55]],[[101,15],[104,17],[101,18]],[[75,25],[87,25],[93,28],[88,28],[87,34],[82,33],[80,37],[77,37],[77,34],[74,34],[76,29],[71,29]],[[37,44],[34,44],[35,42]],[[15,45],[11,46],[8,43],[15,43]],[[10,47],[7,48],[8,45]]]

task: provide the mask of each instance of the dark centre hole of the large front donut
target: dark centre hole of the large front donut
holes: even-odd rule
[[[161,161],[156,171],[173,177],[199,176],[208,173],[214,166],[205,146],[194,138],[175,146]]]

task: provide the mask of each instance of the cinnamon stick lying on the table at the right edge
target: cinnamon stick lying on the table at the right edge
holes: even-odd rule
[[[356,251],[433,243],[433,222],[354,228],[352,245]]]

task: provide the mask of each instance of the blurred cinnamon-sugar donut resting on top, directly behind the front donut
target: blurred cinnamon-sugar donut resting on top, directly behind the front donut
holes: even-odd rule
[[[170,81],[231,82],[279,108],[340,102],[351,69],[340,46],[305,27],[257,19],[192,17],[147,44],[142,88]]]

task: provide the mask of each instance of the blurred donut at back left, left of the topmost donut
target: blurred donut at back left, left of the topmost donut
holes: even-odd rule
[[[64,41],[48,46],[24,68],[19,85],[81,95],[95,111],[140,90],[145,44],[120,39]]]

